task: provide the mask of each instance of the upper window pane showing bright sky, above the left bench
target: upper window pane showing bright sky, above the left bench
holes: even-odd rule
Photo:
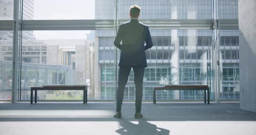
[[[115,0],[23,0],[23,19],[114,19],[114,7]]]

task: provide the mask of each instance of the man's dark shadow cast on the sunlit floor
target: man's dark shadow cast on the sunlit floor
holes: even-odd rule
[[[138,124],[134,124],[125,119],[118,120],[121,129],[115,132],[121,135],[169,135],[167,129],[158,128],[156,125],[147,122],[145,119],[134,119]]]

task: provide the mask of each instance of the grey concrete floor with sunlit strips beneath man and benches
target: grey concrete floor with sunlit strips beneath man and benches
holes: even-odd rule
[[[239,103],[0,103],[0,135],[256,135],[256,113]]]

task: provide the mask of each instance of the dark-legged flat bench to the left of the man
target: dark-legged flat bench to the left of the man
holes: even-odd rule
[[[87,85],[43,85],[43,87],[31,87],[30,103],[33,104],[33,90],[35,90],[35,103],[37,103],[37,90],[83,90],[83,103],[87,103]]]

